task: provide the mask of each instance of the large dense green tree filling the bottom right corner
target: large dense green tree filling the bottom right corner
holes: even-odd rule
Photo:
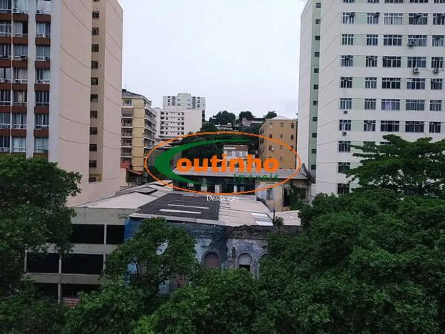
[[[362,188],[313,204],[300,236],[268,240],[256,334],[445,331],[444,200]]]

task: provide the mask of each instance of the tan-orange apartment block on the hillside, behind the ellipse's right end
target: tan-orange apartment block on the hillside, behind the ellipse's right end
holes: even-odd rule
[[[277,139],[293,149],[297,147],[297,120],[277,116],[267,119],[261,125],[259,130],[261,136],[270,139]],[[259,155],[262,161],[268,158],[277,159],[280,162],[280,168],[296,168],[296,155],[286,148],[272,140],[259,139]]]

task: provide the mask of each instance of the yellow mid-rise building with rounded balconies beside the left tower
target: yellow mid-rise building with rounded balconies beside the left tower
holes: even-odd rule
[[[151,101],[122,90],[121,166],[144,171],[144,159],[156,143],[156,112]]]

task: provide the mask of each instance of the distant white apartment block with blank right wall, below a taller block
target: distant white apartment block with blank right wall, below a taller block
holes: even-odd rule
[[[157,116],[158,141],[197,132],[203,126],[201,109],[184,109],[182,106],[154,108]]]

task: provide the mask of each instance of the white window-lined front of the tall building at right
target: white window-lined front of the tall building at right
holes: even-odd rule
[[[319,90],[316,192],[343,194],[357,186],[343,174],[359,165],[351,145],[385,145],[389,133],[410,141],[443,138],[443,4],[309,1],[303,17],[321,11],[320,33],[306,29],[301,36],[320,41],[319,83],[309,83]],[[302,75],[300,85],[309,78]]]

